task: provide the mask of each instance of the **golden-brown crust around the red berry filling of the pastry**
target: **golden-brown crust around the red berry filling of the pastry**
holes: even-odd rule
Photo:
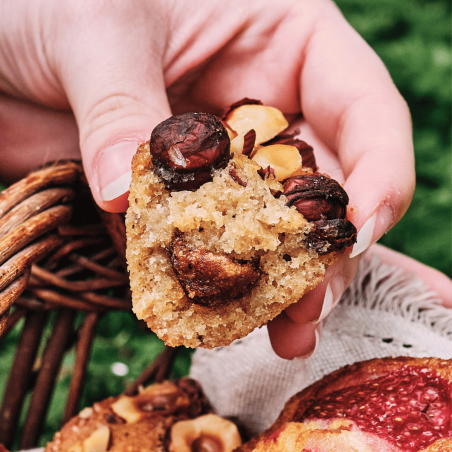
[[[300,447],[312,447],[313,444],[318,445],[318,449],[315,450],[323,452],[324,450],[330,450],[322,448],[322,445],[328,443],[331,443],[330,447],[333,447],[333,450],[381,451],[382,446],[375,445],[378,440],[377,435],[361,432],[353,421],[347,419],[335,419],[333,422],[331,422],[331,419],[303,421],[303,415],[308,408],[312,407],[315,400],[324,399],[335,391],[358,386],[411,366],[431,370],[440,376],[448,385],[447,391],[450,403],[452,399],[452,360],[399,357],[355,363],[326,375],[321,380],[292,396],[275,423],[269,429],[238,448],[236,452],[257,452],[263,450],[292,452],[302,450]],[[341,426],[338,424],[340,422],[345,424]],[[452,419],[449,419],[448,422],[450,425]],[[347,423],[350,425],[346,425]],[[281,438],[279,438],[280,432],[283,434]],[[272,436],[279,438],[279,442],[269,441]],[[347,444],[347,441],[350,442],[349,448],[341,448],[344,441],[345,444]],[[290,448],[292,446],[288,446],[289,443],[294,445],[293,449]],[[384,450],[402,450],[395,445],[385,443],[387,449]],[[334,447],[337,447],[337,449],[334,449]],[[452,438],[438,439],[423,450],[429,452],[452,450]]]

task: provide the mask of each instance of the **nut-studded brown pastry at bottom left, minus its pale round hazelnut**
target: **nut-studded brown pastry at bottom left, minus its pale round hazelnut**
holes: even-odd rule
[[[210,411],[194,380],[155,383],[135,396],[109,397],[83,409],[54,435],[45,452],[164,451],[174,423]],[[93,448],[97,434],[101,439]]]

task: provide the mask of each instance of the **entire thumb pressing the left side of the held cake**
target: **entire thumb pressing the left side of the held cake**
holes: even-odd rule
[[[79,127],[85,173],[95,201],[109,212],[127,209],[133,155],[171,115],[161,63],[165,33],[150,37],[141,16],[129,13],[125,4],[84,12],[59,41],[60,79]],[[74,39],[80,30],[83,40]]]

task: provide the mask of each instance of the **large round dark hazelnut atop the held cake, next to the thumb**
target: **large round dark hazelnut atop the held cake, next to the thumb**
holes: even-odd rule
[[[228,132],[209,113],[168,118],[153,130],[149,147],[156,173],[171,191],[198,189],[230,159]]]

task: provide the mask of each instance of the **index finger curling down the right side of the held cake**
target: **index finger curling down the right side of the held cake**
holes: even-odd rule
[[[301,108],[338,154],[350,197],[347,217],[360,231],[352,256],[405,213],[414,191],[408,107],[384,64],[345,21],[326,8],[307,44]]]

